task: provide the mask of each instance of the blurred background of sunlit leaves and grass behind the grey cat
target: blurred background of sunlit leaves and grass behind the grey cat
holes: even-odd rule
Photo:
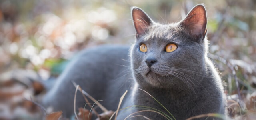
[[[229,114],[255,119],[255,0],[0,0],[0,119],[44,116],[26,100],[46,89],[32,78],[58,76],[80,50],[132,44],[132,6],[166,24],[182,20],[200,3],[206,6],[209,56],[223,78]]]

